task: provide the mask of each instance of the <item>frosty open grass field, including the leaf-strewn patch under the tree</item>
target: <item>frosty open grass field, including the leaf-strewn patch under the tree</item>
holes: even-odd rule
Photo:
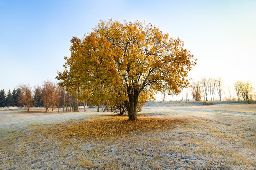
[[[138,121],[0,112],[0,169],[256,169],[256,103],[148,102]]]

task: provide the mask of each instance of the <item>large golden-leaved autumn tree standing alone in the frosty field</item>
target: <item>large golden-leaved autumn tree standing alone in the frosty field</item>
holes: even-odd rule
[[[64,86],[74,82],[81,93],[85,83],[103,88],[98,95],[102,100],[119,96],[129,120],[137,119],[141,92],[152,97],[167,85],[170,93],[179,93],[179,87],[188,85],[188,71],[196,64],[180,38],[173,39],[145,22],[100,21],[91,33],[82,39],[73,37],[71,43],[71,57],[65,57],[65,70],[58,72],[57,79]]]

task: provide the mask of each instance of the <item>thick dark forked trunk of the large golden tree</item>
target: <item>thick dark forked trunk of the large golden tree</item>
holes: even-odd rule
[[[129,101],[125,100],[124,104],[128,111],[129,120],[137,120],[136,107],[138,104],[139,91],[132,87],[127,87]]]

